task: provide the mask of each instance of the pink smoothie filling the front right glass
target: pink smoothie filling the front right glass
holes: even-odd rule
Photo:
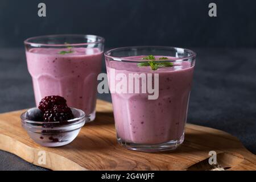
[[[156,100],[148,100],[147,93],[112,93],[118,138],[126,142],[156,144],[183,137],[194,69],[191,63],[183,61],[174,63],[174,67],[152,71],[150,67],[138,67],[137,63],[109,61],[108,76],[110,68],[115,69],[115,75],[125,73],[126,77],[129,73],[159,73]]]

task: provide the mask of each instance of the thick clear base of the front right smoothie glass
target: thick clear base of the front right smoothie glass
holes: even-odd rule
[[[160,151],[175,150],[181,143],[183,143],[183,141],[184,141],[184,133],[179,140],[170,140],[168,142],[159,143],[159,144],[133,143],[133,142],[128,142],[126,140],[122,140],[121,138],[117,138],[117,142],[121,144],[121,146],[129,150],[142,151],[142,152],[160,152]]]

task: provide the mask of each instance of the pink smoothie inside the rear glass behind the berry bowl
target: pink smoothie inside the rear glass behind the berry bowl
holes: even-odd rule
[[[68,106],[92,114],[96,107],[97,76],[102,52],[97,48],[32,48],[26,52],[36,105],[45,96],[62,96]]]

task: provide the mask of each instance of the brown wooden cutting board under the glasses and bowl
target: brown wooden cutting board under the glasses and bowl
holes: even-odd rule
[[[98,100],[96,110],[96,120],[86,124],[72,143],[55,148],[39,146],[28,137],[19,118],[24,110],[0,114],[0,150],[53,170],[208,170],[209,151],[216,151],[218,164],[227,170],[256,170],[256,156],[237,138],[191,124],[175,151],[127,150],[116,141],[112,104]]]

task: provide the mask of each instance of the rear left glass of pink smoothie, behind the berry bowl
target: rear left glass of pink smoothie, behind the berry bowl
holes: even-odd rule
[[[43,97],[61,96],[93,121],[104,38],[48,35],[29,38],[24,44],[36,105]]]

